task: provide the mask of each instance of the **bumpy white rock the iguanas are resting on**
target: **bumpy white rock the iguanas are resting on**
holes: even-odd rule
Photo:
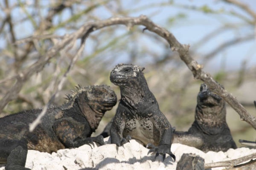
[[[109,139],[105,139],[109,143]],[[26,167],[32,170],[175,170],[177,161],[183,153],[195,153],[205,159],[205,163],[236,159],[242,156],[256,153],[256,149],[241,147],[236,150],[230,149],[227,152],[204,153],[194,147],[183,144],[172,144],[172,153],[176,156],[174,162],[170,156],[164,161],[162,156],[154,159],[154,155],[147,155],[148,149],[135,140],[118,148],[115,144],[90,147],[83,145],[79,148],[58,150],[57,153],[41,153],[36,150],[29,150]],[[221,170],[222,168],[212,168]],[[4,170],[4,167],[0,167]]]

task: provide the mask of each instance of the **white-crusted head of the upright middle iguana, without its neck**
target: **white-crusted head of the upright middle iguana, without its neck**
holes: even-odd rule
[[[138,65],[119,64],[111,71],[110,81],[118,86],[132,86],[134,82],[140,82],[144,78],[143,70]]]

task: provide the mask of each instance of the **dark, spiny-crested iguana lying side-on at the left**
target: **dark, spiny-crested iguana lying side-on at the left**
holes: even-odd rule
[[[116,105],[116,94],[109,86],[77,87],[67,95],[67,103],[51,106],[41,123],[29,132],[32,123],[42,109],[21,111],[0,118],[0,162],[7,158],[6,170],[24,168],[28,149],[56,152],[59,149],[79,147],[98,142],[102,136],[90,137],[106,111]]]

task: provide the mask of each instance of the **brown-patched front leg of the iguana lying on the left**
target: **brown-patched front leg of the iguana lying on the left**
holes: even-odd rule
[[[84,122],[77,122],[71,117],[56,120],[52,129],[66,147],[80,147],[93,142],[105,144],[102,136],[87,137],[91,135],[90,126]]]

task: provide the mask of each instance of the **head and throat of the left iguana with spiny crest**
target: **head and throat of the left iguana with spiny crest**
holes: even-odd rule
[[[116,105],[116,94],[107,85],[78,86],[76,88],[73,94],[67,95],[67,99],[69,103],[71,102],[70,105],[79,107],[90,127],[95,130],[104,113]]]

